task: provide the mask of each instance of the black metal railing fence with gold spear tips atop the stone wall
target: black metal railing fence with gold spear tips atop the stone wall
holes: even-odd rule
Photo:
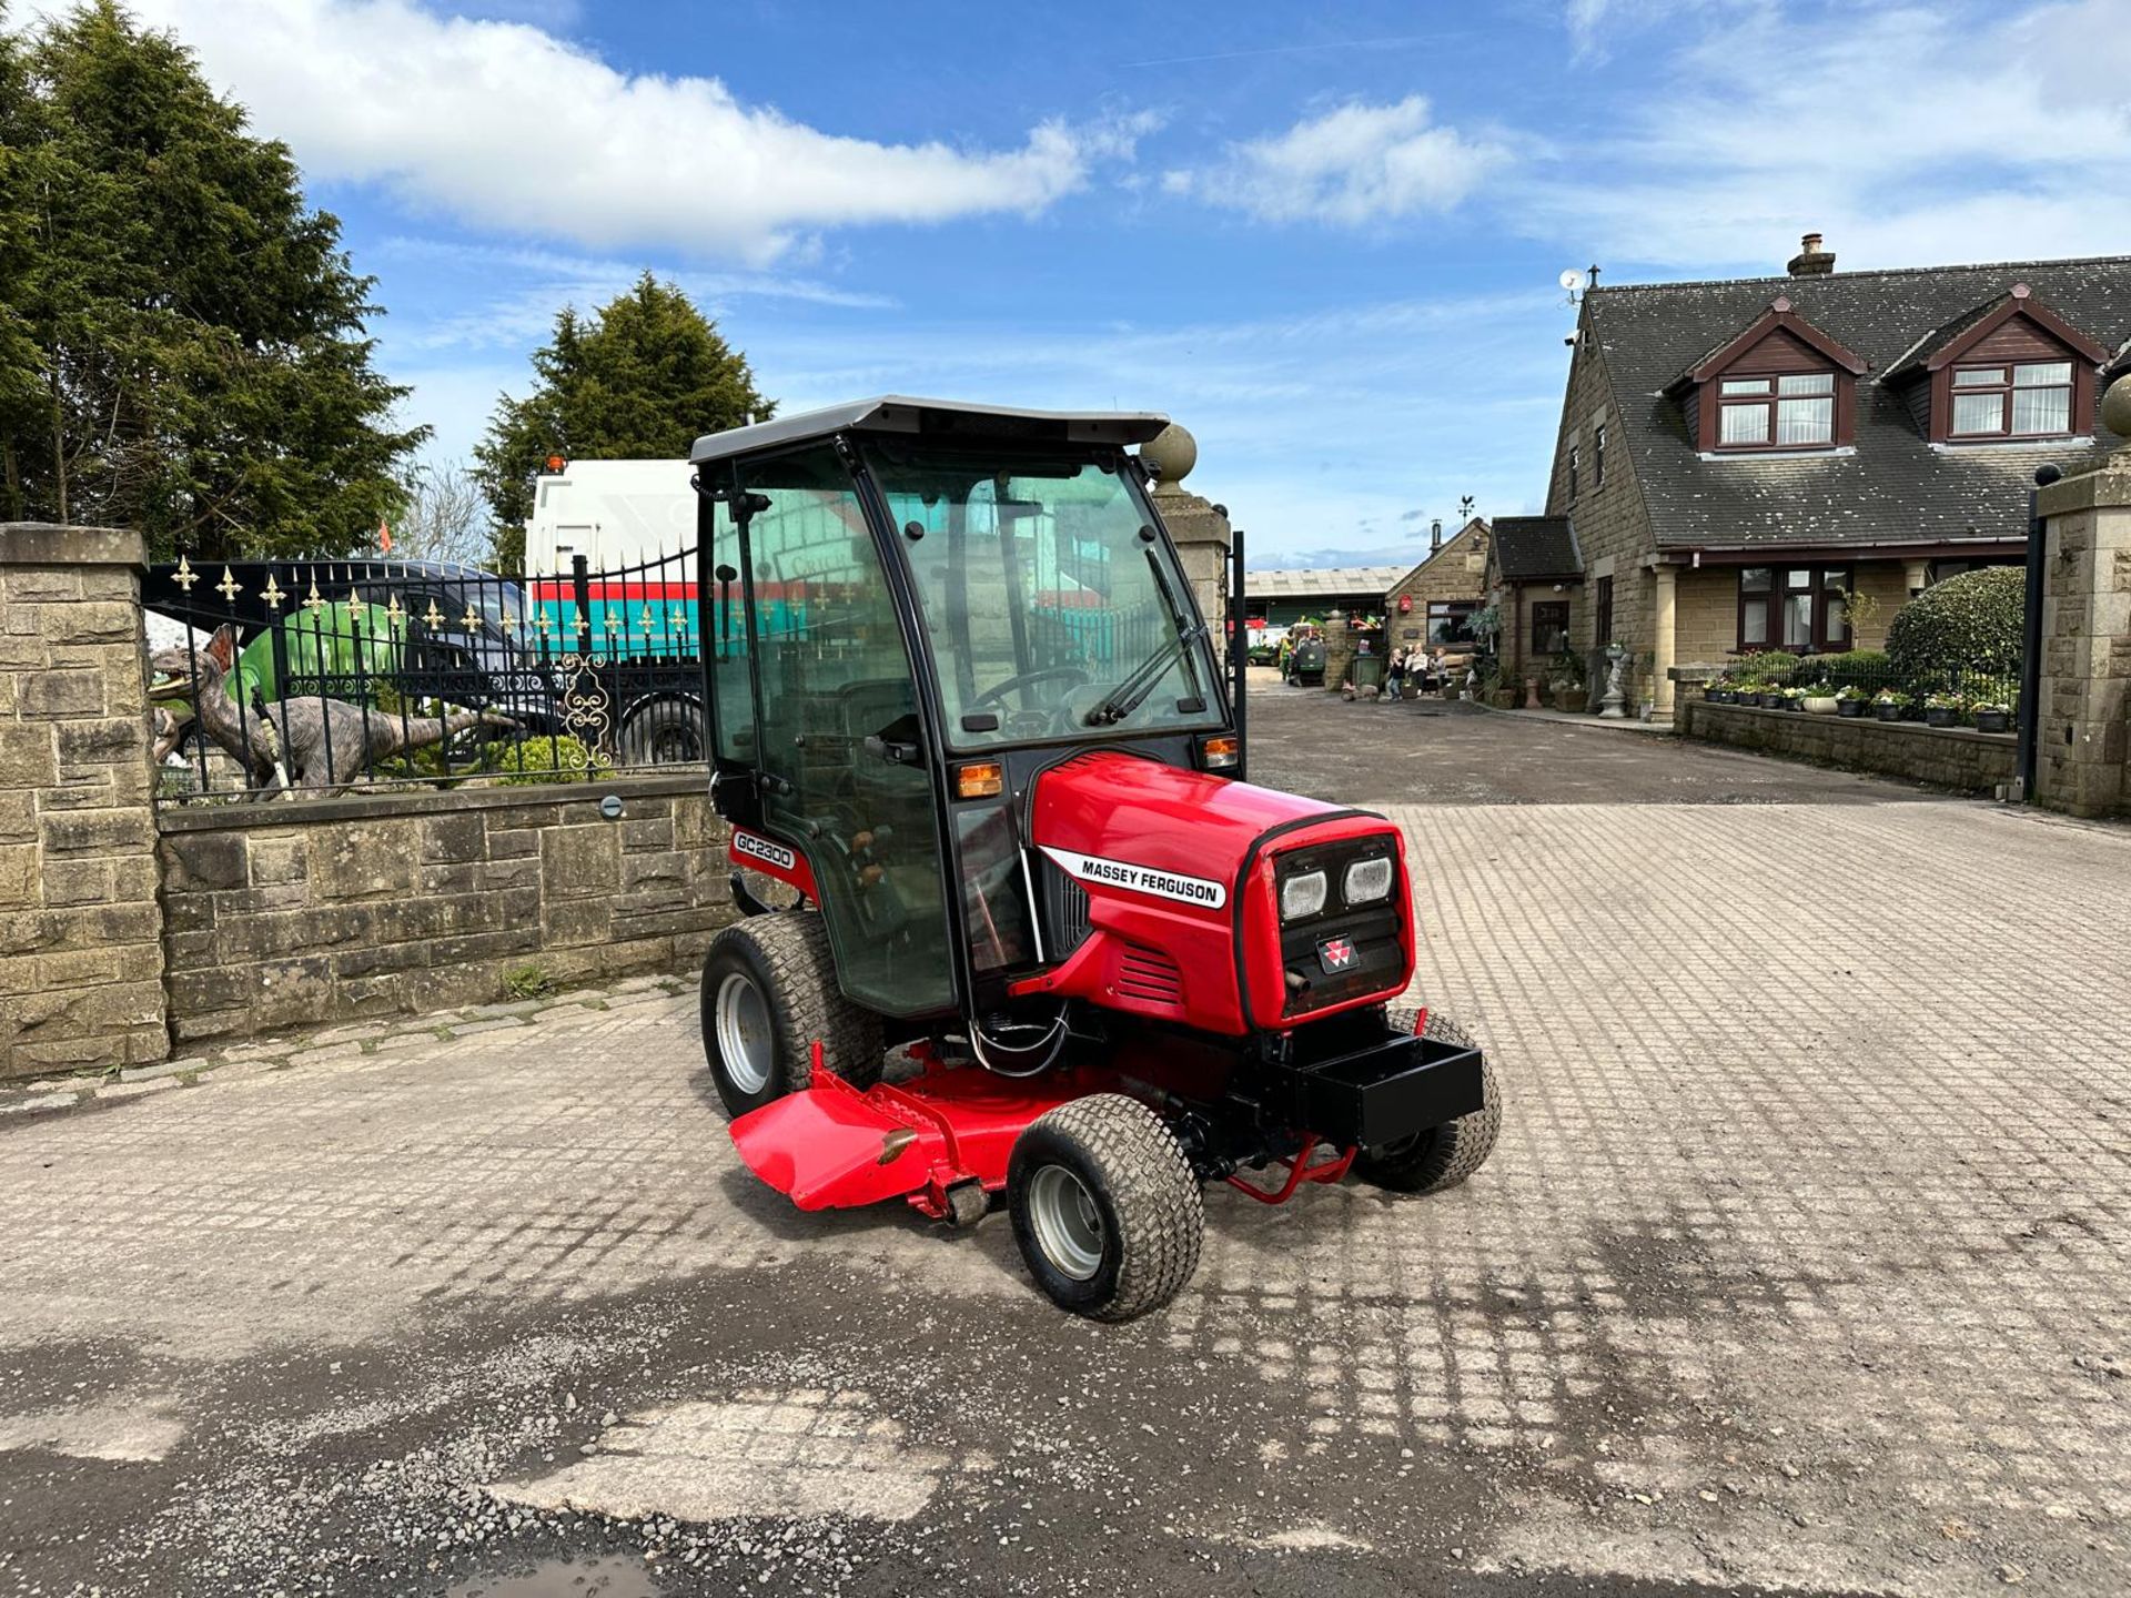
[[[439,560],[153,567],[160,795],[567,782],[701,763],[695,550],[505,577]]]

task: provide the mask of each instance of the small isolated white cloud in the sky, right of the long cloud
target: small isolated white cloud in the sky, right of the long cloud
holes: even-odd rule
[[[1447,211],[1509,151],[1436,126],[1428,100],[1343,104],[1283,134],[1230,145],[1200,170],[1164,175],[1170,194],[1198,194],[1266,222],[1362,226],[1419,211]]]

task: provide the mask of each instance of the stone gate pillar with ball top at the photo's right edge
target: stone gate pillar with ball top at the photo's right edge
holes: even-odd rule
[[[2131,377],[2101,401],[2131,437]],[[2035,799],[2073,816],[2131,814],[2131,445],[2037,494],[2048,522]]]

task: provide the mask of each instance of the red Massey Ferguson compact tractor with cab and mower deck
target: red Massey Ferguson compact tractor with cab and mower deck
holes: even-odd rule
[[[1500,1123],[1396,1004],[1398,829],[1242,780],[1240,584],[1232,692],[1127,452],[1164,426],[874,398],[690,454],[733,1144],[801,1210],[1004,1195],[1108,1321],[1189,1281],[1206,1183],[1432,1193]]]

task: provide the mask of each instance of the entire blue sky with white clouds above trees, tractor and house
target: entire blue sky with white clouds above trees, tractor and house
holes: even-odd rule
[[[134,11],[341,215],[441,458],[650,266],[786,411],[1168,411],[1253,565],[1536,509],[1564,266],[2131,249],[2131,0]]]

